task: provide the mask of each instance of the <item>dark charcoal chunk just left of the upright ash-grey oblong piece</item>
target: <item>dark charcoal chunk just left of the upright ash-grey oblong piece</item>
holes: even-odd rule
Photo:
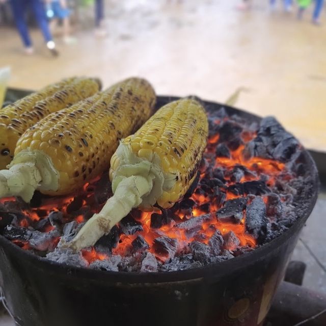
[[[225,205],[216,212],[218,220],[222,222],[240,223],[243,210],[246,208],[247,198],[235,198],[228,200]]]

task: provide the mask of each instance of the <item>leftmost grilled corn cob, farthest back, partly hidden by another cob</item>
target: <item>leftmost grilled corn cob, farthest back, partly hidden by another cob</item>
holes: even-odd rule
[[[0,169],[13,159],[21,135],[52,112],[62,110],[80,99],[95,94],[99,80],[69,78],[28,95],[0,112]]]

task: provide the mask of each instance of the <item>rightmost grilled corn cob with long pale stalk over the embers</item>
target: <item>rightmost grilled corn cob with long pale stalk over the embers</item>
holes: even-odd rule
[[[193,183],[206,147],[208,122],[195,99],[172,102],[125,138],[111,159],[113,197],[66,246],[95,244],[134,207],[169,208]]]

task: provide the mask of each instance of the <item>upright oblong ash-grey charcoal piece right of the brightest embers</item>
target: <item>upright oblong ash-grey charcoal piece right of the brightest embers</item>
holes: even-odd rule
[[[254,236],[260,243],[266,237],[266,208],[261,197],[256,197],[252,203],[247,206],[246,231]]]

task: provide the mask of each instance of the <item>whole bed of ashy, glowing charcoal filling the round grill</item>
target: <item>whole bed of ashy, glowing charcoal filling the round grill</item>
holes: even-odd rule
[[[207,108],[209,141],[194,183],[168,210],[134,209],[94,247],[64,249],[112,196],[108,173],[72,196],[36,192],[30,204],[0,200],[0,234],[61,264],[163,272],[245,255],[280,236],[307,209],[313,177],[302,146],[273,117]]]

